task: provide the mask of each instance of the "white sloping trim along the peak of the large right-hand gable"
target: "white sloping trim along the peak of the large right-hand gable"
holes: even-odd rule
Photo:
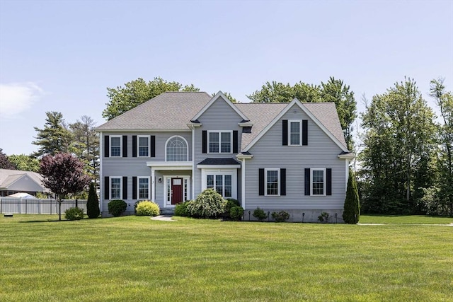
[[[282,111],[280,111],[280,113],[274,117],[274,119],[272,120],[272,122],[270,122],[261,132],[260,134],[258,134],[244,149],[243,149],[243,152],[246,152],[248,150],[251,149],[251,147],[253,147],[253,145],[256,144],[257,141],[260,140],[261,137],[263,137],[263,135],[269,131],[269,129],[271,127],[274,126],[274,124],[276,124],[281,118],[283,115],[285,115],[286,112],[288,112],[293,106],[294,104],[296,104],[297,106],[299,106],[299,108],[301,108],[301,110],[309,116],[309,118],[319,127],[321,128],[321,130],[327,134],[327,136],[332,139],[332,141],[338,146],[340,147],[340,149],[342,151],[345,151],[345,152],[349,152],[348,149],[346,148],[346,146],[343,146],[343,144],[340,143],[340,141],[330,132],[328,131],[328,129],[326,128],[326,126],[324,126],[323,123],[319,122],[319,120],[313,115],[313,113],[310,112],[310,110],[306,109],[306,107],[304,105],[302,105],[302,103],[299,102],[299,100],[297,100],[297,98],[294,98],[294,100],[291,101],[291,103],[289,103],[285,109],[283,109]]]

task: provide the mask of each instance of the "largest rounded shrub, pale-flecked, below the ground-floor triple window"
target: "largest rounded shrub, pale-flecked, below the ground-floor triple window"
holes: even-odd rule
[[[224,214],[226,200],[214,189],[207,189],[197,199],[187,204],[188,214],[193,217],[213,218]]]

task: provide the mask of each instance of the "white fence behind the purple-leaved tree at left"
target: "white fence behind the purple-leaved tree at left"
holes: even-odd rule
[[[62,214],[79,207],[86,214],[86,199],[63,199]],[[56,199],[0,197],[0,214],[58,214]]]

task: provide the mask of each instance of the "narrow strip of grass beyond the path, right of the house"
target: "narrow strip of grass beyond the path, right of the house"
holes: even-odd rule
[[[449,224],[453,217],[425,215],[361,215],[360,223],[390,223],[390,224]]]

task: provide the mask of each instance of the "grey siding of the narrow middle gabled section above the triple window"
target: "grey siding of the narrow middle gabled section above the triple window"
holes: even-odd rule
[[[236,130],[238,132],[238,149],[241,147],[242,128],[239,127],[240,117],[222,98],[217,99],[210,108],[198,119],[202,127],[195,128],[195,196],[201,192],[201,169],[196,168],[197,164],[206,158],[234,158],[236,153],[202,153],[202,131],[213,130]],[[231,146],[231,151],[233,146]],[[208,146],[209,151],[209,146]],[[240,151],[240,150],[239,150]],[[237,194],[241,196],[241,169],[237,169]]]

